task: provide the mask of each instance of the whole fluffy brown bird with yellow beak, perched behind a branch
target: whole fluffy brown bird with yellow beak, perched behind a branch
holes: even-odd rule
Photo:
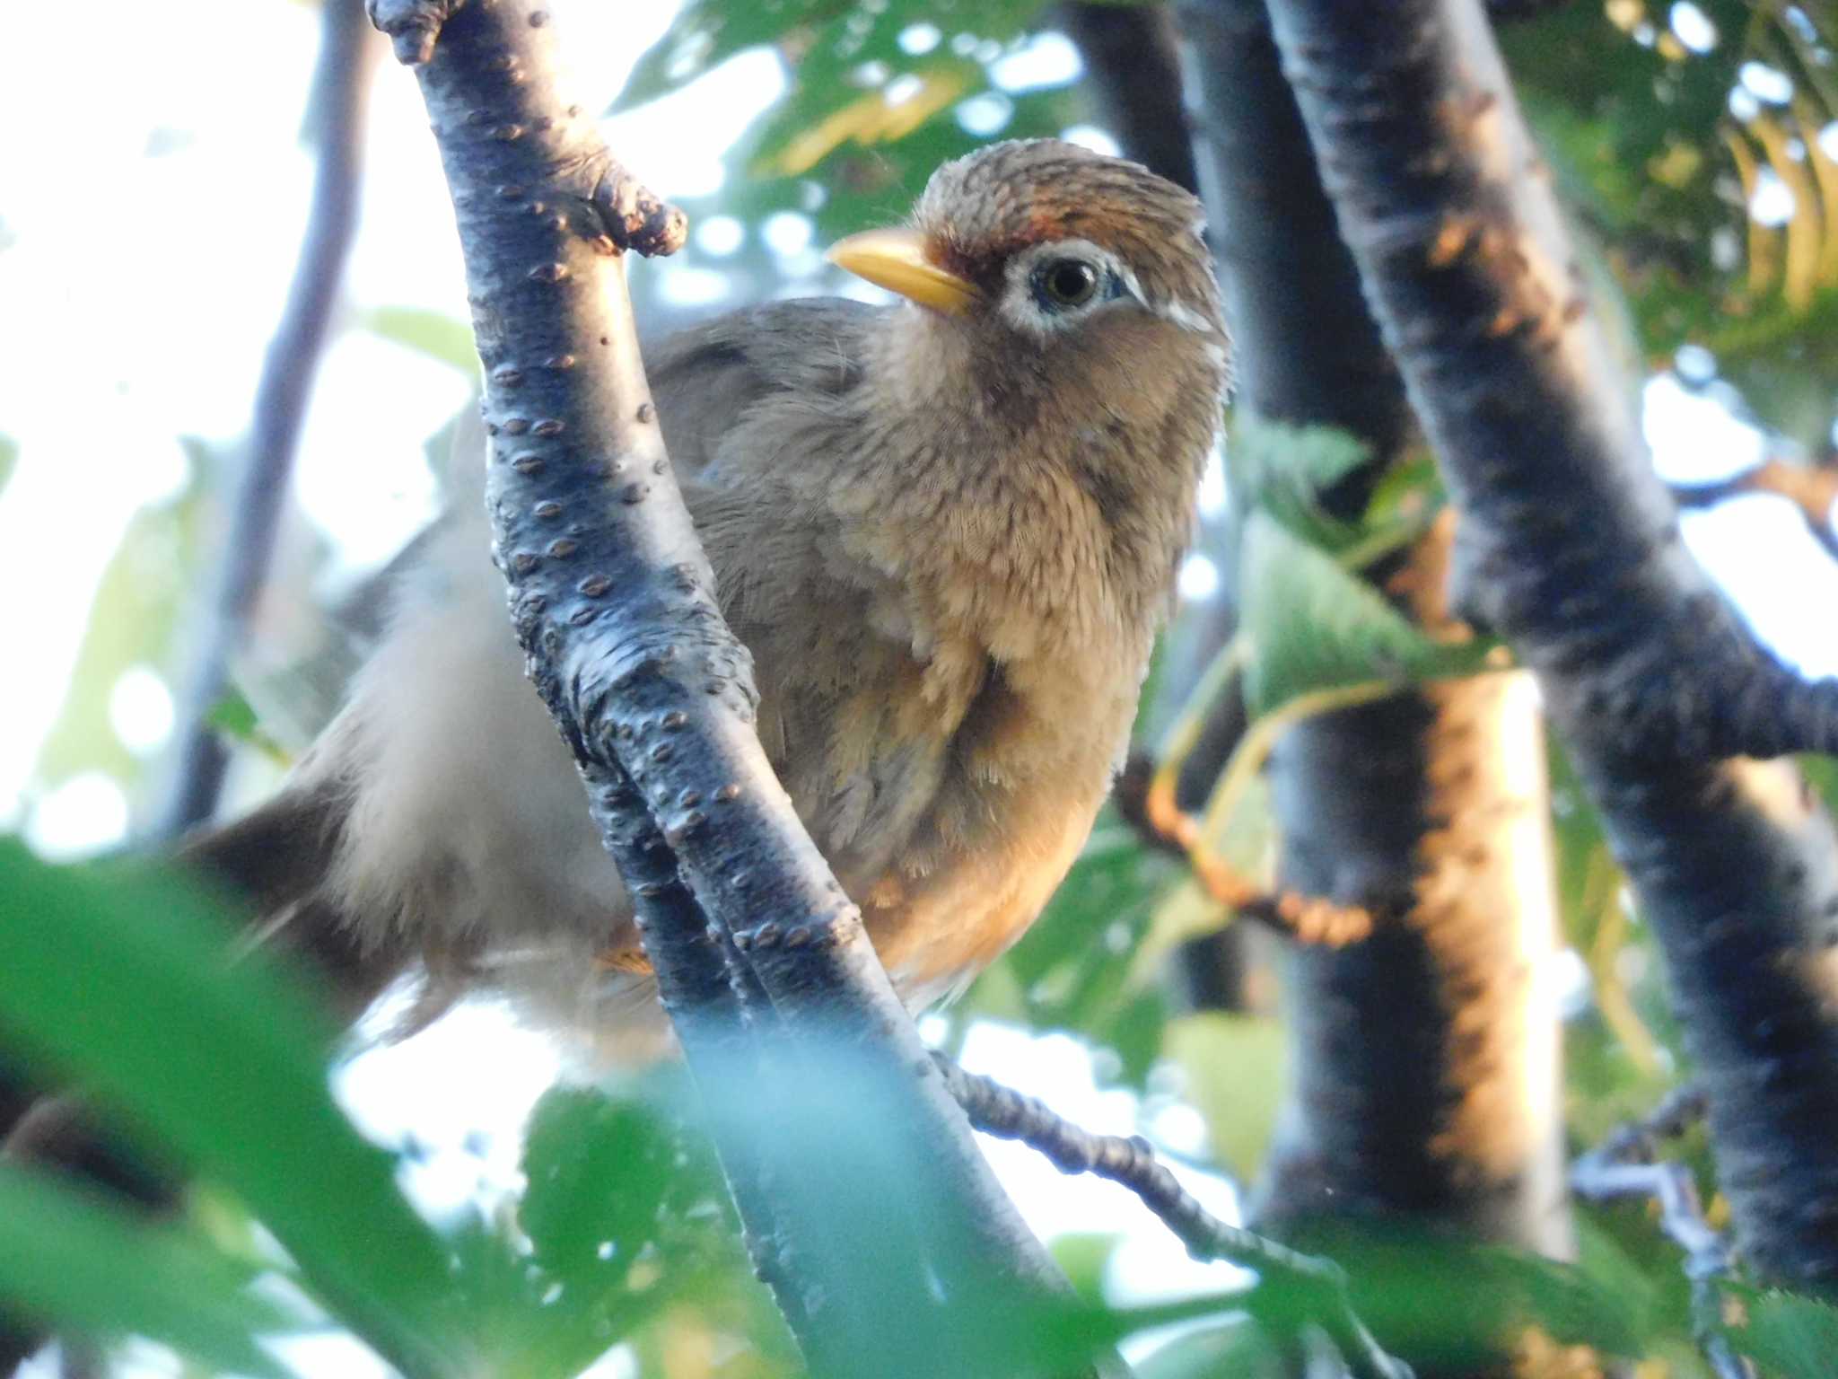
[[[1143,167],[998,143],[831,252],[901,302],[649,351],[766,754],[913,1006],[1033,921],[1119,765],[1228,381],[1200,228]],[[281,792],[191,855],[353,1004],[419,965],[423,1013],[496,989],[630,1055],[662,1017],[480,507],[423,539]]]

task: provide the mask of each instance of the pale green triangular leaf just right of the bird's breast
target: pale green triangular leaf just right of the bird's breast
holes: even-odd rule
[[[1377,588],[1263,511],[1244,526],[1241,636],[1254,715],[1316,690],[1474,675],[1492,644],[1432,642]]]

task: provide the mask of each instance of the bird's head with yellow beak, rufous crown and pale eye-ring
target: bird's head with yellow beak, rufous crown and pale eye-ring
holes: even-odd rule
[[[1138,164],[1024,140],[945,164],[908,226],[849,235],[829,257],[952,322],[978,355],[1147,362],[1165,346],[1222,381],[1202,224],[1195,197]]]

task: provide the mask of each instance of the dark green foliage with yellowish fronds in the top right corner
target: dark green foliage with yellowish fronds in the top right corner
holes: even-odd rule
[[[1748,0],[1592,0],[1502,33],[1647,357],[1708,349],[1814,454],[1838,412],[1834,35],[1827,4]]]

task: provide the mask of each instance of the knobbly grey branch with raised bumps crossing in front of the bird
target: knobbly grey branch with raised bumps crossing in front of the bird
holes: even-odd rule
[[[781,1031],[794,1065],[823,1055],[827,1083],[847,1074],[875,1098],[857,1100],[823,1158],[811,1157],[811,1127],[777,1123],[796,1116],[754,1118],[757,1147],[713,1118],[730,1175],[770,1173],[770,1186],[735,1188],[743,1210],[774,1204],[776,1219],[750,1232],[796,1261],[777,1296],[812,1368],[847,1372],[891,1337],[915,1372],[952,1372],[963,1339],[936,1271],[948,1300],[1059,1274],[996,1186],[754,734],[750,658],[717,610],[664,450],[618,259],[669,252],[682,217],[557,92],[544,9],[371,0],[371,15],[415,66],[458,211],[485,362],[487,504],[531,678],[616,860],[658,851],[649,826],[632,824],[636,794],[706,919],[662,859],[634,875],[684,1052],[711,1098],[739,1096],[737,1035],[724,1031],[741,1002],[722,995],[739,963],[743,993],[772,1008],[755,1033]],[[755,1105],[761,1090],[746,1088]],[[783,1090],[820,1096],[825,1079]]]

